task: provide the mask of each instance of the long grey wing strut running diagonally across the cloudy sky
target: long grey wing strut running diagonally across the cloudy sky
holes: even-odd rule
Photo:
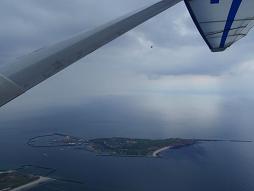
[[[0,68],[0,107],[182,0],[162,0]]]

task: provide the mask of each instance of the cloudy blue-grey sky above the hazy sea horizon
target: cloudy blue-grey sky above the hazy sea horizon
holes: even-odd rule
[[[153,2],[157,1],[1,0],[0,67]],[[96,96],[252,98],[253,41],[250,32],[227,51],[211,53],[184,3],[179,3],[28,91],[0,113],[78,105]]]

